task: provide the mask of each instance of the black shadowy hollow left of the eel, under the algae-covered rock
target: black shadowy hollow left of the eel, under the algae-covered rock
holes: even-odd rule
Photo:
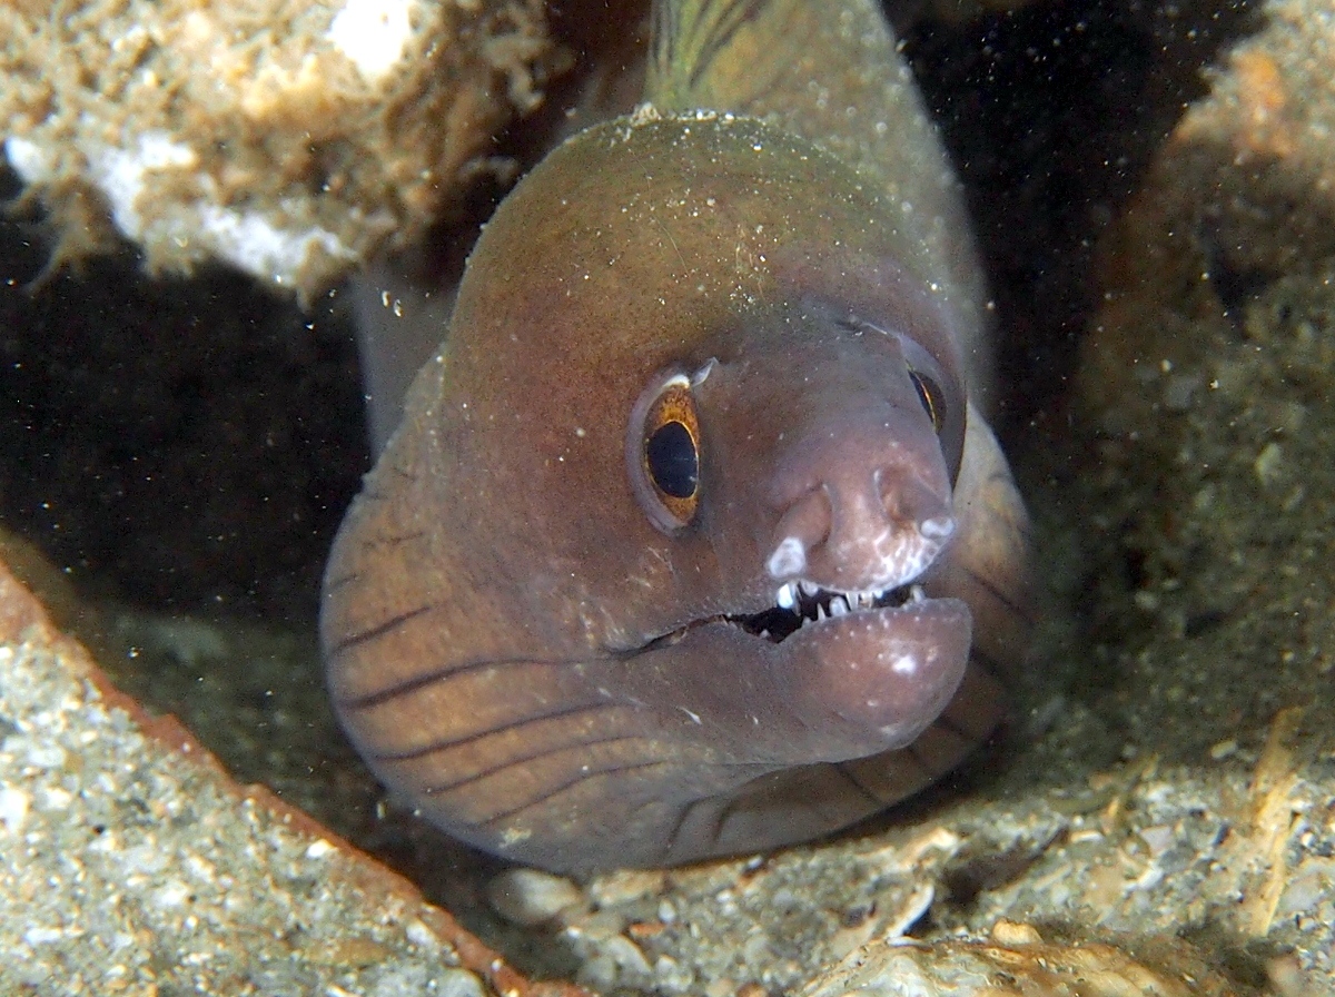
[[[0,223],[0,514],[91,594],[308,627],[367,466],[346,324]],[[32,283],[37,279],[37,283]]]

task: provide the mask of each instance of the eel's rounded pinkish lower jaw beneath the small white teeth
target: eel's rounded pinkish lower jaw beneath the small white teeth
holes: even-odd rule
[[[854,602],[860,609],[828,615],[821,605],[796,622],[804,614],[781,606],[712,615],[617,657],[650,655],[650,667],[627,671],[653,686],[637,702],[668,695],[693,731],[708,731],[710,750],[753,767],[865,758],[912,743],[937,721],[968,669],[973,618],[963,599],[926,598],[920,586]],[[780,613],[785,629],[762,637]]]

